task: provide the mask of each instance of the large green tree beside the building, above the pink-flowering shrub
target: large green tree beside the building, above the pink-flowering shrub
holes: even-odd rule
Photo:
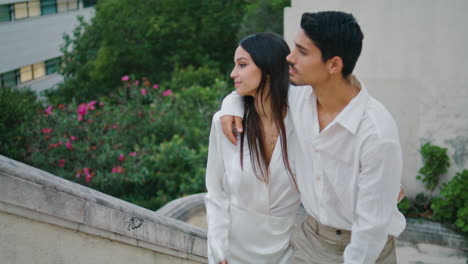
[[[112,92],[120,76],[153,82],[175,68],[209,66],[227,72],[245,0],[102,0],[90,23],[65,36],[56,92],[67,101]]]

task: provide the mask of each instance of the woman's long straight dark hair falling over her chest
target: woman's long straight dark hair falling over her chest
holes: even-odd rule
[[[250,54],[254,63],[262,71],[262,79],[255,91],[255,96],[258,98],[270,97],[270,109],[281,139],[283,162],[294,180],[289,165],[286,129],[283,122],[288,109],[289,64],[286,61],[286,56],[290,52],[289,47],[281,36],[274,33],[258,33],[247,36],[239,42],[239,45]],[[270,78],[270,90],[265,91],[267,78]],[[265,94],[266,92],[267,94]],[[266,167],[265,139],[263,138],[262,122],[255,108],[254,97],[244,96],[244,104],[245,111],[242,122],[245,132],[241,134],[241,167],[243,168],[244,137],[247,137],[255,176],[268,182],[270,173]],[[258,105],[258,107],[263,106]]]

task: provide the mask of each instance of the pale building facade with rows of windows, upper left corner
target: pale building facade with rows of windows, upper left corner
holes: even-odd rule
[[[58,74],[64,33],[89,20],[96,0],[1,0],[0,88],[41,91],[63,80]]]

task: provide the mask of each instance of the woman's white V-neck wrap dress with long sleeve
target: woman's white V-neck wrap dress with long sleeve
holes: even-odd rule
[[[285,118],[288,148],[293,145],[289,142],[290,122]],[[206,169],[209,263],[289,263],[289,238],[300,201],[283,163],[280,140],[270,161],[268,184],[254,175],[247,142],[241,169],[238,142],[232,145],[224,136],[216,113]],[[290,156],[289,162],[294,172],[294,157]]]

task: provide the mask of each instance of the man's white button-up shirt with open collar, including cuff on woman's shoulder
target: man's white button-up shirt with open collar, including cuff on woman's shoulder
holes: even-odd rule
[[[359,94],[322,131],[310,86],[291,86],[288,104],[294,132],[301,202],[321,224],[352,231],[344,263],[375,263],[388,236],[406,225],[398,211],[402,173],[398,128],[391,114],[361,84]],[[221,116],[243,114],[233,93]]]

